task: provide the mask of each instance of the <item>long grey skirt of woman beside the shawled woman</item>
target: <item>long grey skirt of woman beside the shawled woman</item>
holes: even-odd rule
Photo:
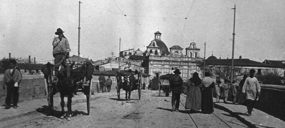
[[[185,109],[201,109],[201,97],[202,93],[199,87],[190,86],[187,92]]]

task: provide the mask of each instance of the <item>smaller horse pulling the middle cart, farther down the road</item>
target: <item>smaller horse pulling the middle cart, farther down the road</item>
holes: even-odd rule
[[[130,101],[130,95],[133,90],[138,89],[139,84],[137,83],[138,80],[135,80],[135,77],[127,72],[127,73],[119,73],[117,72],[117,96],[120,99],[120,89],[126,91],[125,99]]]

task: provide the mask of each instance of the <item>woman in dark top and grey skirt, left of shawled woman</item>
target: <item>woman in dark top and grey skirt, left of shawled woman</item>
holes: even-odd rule
[[[199,74],[195,72],[193,77],[186,82],[187,97],[185,102],[185,109],[190,109],[193,113],[195,110],[201,109],[201,97],[202,93],[200,88],[202,87],[202,80],[199,78]]]

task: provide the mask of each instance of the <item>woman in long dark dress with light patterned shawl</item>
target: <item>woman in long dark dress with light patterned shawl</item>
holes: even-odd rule
[[[210,77],[209,72],[205,73],[205,78],[202,79],[202,113],[210,114],[214,112],[212,88],[215,88],[215,82]]]

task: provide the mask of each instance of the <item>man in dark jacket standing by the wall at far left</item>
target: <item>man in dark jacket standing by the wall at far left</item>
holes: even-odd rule
[[[10,59],[9,65],[10,68],[7,69],[4,73],[3,77],[3,89],[5,90],[7,87],[7,95],[5,99],[5,109],[11,108],[11,100],[13,96],[13,108],[18,107],[19,102],[19,86],[20,82],[22,80],[22,74],[21,72],[16,69],[16,60]],[[5,87],[6,86],[6,87]]]

